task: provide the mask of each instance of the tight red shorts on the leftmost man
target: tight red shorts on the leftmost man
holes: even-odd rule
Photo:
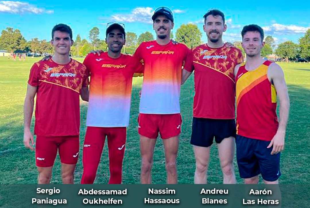
[[[38,167],[53,166],[58,149],[61,163],[76,164],[80,149],[79,136],[37,136],[36,165]]]

